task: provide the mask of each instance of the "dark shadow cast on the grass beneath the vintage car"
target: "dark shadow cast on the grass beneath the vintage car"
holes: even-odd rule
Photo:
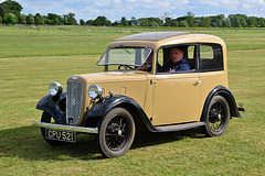
[[[24,160],[43,161],[68,161],[77,160],[103,160],[97,150],[94,135],[80,134],[77,143],[61,146],[51,146],[42,135],[40,128],[21,127],[0,131],[0,157],[21,157]],[[200,130],[192,129],[170,133],[139,133],[136,134],[131,150],[159,145],[168,142],[180,141],[186,138],[204,138]]]

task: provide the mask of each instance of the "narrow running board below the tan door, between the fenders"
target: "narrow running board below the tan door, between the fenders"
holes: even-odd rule
[[[201,125],[205,125],[205,123],[204,122],[192,122],[192,123],[163,125],[163,127],[155,127],[155,128],[158,130],[158,132],[173,132],[173,131],[189,130],[189,129],[198,128]]]

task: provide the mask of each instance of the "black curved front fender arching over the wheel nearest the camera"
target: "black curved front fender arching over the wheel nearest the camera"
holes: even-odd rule
[[[155,132],[157,129],[151,124],[144,109],[134,99],[126,96],[106,97],[94,105],[87,112],[87,119],[92,117],[105,117],[115,107],[128,108],[134,113],[134,119]]]

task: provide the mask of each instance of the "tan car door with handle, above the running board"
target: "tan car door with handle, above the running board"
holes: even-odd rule
[[[192,46],[195,52],[197,46]],[[186,59],[190,56],[186,51]],[[159,51],[158,61],[163,57],[165,51]],[[187,58],[189,57],[189,58]],[[161,62],[160,62],[161,63]],[[184,73],[157,73],[155,76],[155,94],[152,106],[153,125],[167,125],[198,121],[199,114],[199,74],[195,65]]]

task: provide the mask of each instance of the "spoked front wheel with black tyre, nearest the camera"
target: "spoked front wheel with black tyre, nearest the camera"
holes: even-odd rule
[[[96,144],[105,157],[124,155],[135,139],[135,122],[131,114],[124,108],[110,110],[98,122]]]

